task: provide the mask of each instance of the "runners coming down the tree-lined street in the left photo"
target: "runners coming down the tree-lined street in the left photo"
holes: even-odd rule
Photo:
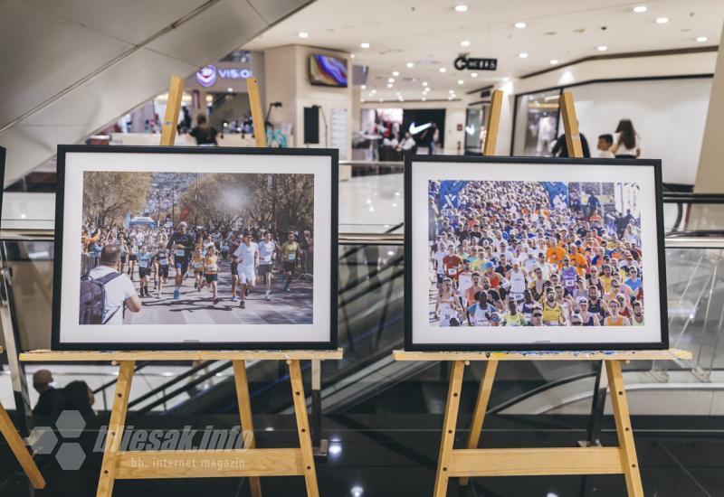
[[[216,305],[221,298],[218,278],[224,268],[231,277],[230,300],[244,308],[245,297],[257,286],[257,280],[263,286],[265,300],[270,301],[274,274],[283,274],[284,291],[291,292],[294,277],[313,270],[311,232],[304,230],[300,234],[293,228],[275,237],[271,230],[263,228],[228,233],[189,230],[184,221],[176,230],[150,225],[98,228],[90,224],[82,227],[81,234],[81,252],[86,256],[84,274],[95,266],[100,251],[108,245],[118,248],[117,270],[128,274],[134,283],[138,281],[140,297],[162,299],[173,295],[179,300],[184,280],[193,277],[195,291],[201,293],[208,288]],[[228,262],[228,268],[223,261]]]

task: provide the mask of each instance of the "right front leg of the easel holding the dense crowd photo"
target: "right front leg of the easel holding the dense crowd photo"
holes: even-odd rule
[[[624,376],[621,373],[621,362],[605,361],[605,372],[608,375],[608,388],[611,391],[611,403],[614,408],[618,445],[624,465],[626,489],[629,497],[643,497],[641,472],[636,458],[636,446],[633,444],[633,429],[624,389]]]

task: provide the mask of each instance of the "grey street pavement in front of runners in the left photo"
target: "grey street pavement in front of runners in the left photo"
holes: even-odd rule
[[[126,267],[128,270],[128,267]],[[222,261],[218,281],[219,303],[213,305],[209,286],[200,292],[194,288],[193,273],[189,273],[181,286],[181,299],[174,300],[175,269],[169,267],[168,281],[163,286],[161,298],[153,288],[153,276],[148,285],[150,297],[141,297],[143,308],[139,313],[129,313],[123,324],[311,324],[312,282],[310,277],[297,274],[291,283],[291,292],[284,292],[282,273],[274,273],[271,281],[271,302],[264,300],[262,279],[257,277],[257,287],[246,296],[246,308],[232,302],[232,275],[229,262]],[[138,272],[133,275],[138,292]],[[237,295],[241,288],[237,288]]]

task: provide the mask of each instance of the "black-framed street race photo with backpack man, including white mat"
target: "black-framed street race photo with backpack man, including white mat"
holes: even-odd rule
[[[338,152],[58,147],[55,350],[337,347]]]

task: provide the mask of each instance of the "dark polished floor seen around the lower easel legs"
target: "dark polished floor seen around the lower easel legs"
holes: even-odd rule
[[[575,446],[586,436],[586,417],[491,417],[486,421],[482,446]],[[255,417],[262,447],[294,445],[291,417]],[[466,418],[460,419],[467,426]],[[233,424],[233,417],[176,419],[129,417],[136,427],[204,427]],[[636,417],[633,427],[646,496],[724,496],[724,419],[720,417]],[[326,417],[324,435],[335,447],[326,461],[318,462],[320,494],[332,497],[386,497],[431,495],[442,424],[438,415],[351,415]],[[271,428],[273,427],[273,431]],[[613,420],[605,420],[603,443],[615,444]],[[459,445],[467,435],[458,434]],[[79,471],[60,471],[42,462],[48,488],[40,496],[93,495],[100,455],[93,455]],[[265,478],[265,496],[304,495],[300,477]],[[361,491],[361,492],[360,492]],[[247,496],[240,479],[121,481],[114,496],[157,497],[159,492],[178,497],[198,495]],[[623,476],[560,476],[475,478],[468,487],[451,480],[449,496],[584,497],[624,496]],[[0,448],[0,495],[25,497],[29,491],[6,446]]]

